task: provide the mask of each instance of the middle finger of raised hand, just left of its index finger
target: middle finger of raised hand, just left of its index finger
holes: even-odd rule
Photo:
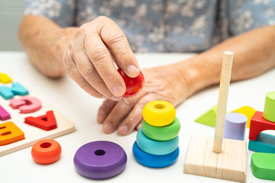
[[[111,53],[104,45],[104,42],[102,42],[100,36],[94,32],[89,32],[85,35],[84,45],[89,59],[106,86],[113,95],[121,97],[126,90],[124,80],[117,69],[115,69]]]

